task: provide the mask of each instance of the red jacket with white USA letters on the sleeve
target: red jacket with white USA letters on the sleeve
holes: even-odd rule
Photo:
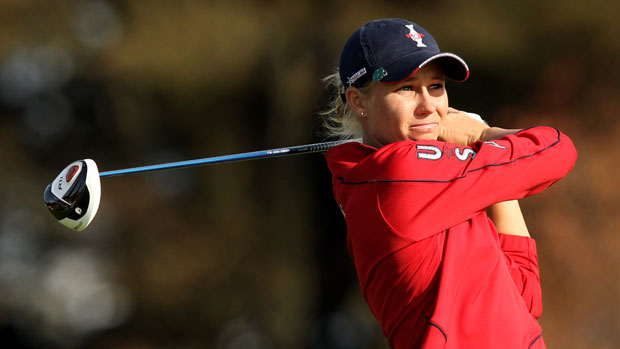
[[[346,143],[326,158],[362,293],[391,347],[544,347],[535,244],[500,241],[485,209],[566,175],[577,158],[568,137],[535,127],[470,147]]]

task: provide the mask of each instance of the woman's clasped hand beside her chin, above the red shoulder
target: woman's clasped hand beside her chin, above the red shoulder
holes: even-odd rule
[[[441,119],[438,140],[467,146],[482,140],[488,128],[488,125],[467,113],[448,108],[448,114]]]

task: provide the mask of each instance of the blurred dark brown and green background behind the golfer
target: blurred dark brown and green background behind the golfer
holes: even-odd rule
[[[43,189],[100,170],[319,142],[348,36],[401,17],[470,65],[453,107],[549,124],[580,157],[521,205],[551,348],[620,347],[620,2],[0,1],[0,343],[386,348],[320,154],[102,182],[72,232]]]

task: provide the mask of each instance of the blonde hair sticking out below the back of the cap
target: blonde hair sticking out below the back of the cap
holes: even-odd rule
[[[342,81],[340,81],[338,69],[333,74],[324,77],[323,83],[329,91],[330,97],[327,108],[319,112],[322,117],[322,135],[340,140],[361,138],[363,131],[358,116],[343,101],[342,96],[345,90]],[[366,94],[371,85],[372,81],[369,81],[359,90]]]

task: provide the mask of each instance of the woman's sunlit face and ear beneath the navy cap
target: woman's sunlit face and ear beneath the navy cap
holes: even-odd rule
[[[364,143],[376,148],[402,140],[436,140],[448,113],[445,79],[437,62],[408,80],[374,84],[361,98]]]

